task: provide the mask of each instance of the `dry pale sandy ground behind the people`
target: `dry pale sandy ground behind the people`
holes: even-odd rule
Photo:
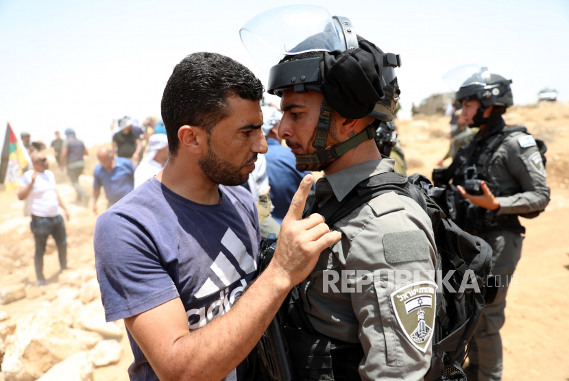
[[[517,284],[509,290],[506,323],[502,330],[504,380],[569,380],[569,103],[540,103],[513,107],[505,115],[507,123],[525,125],[548,145],[546,156],[551,201],[546,212],[524,220],[527,228],[522,259],[516,271]],[[398,121],[398,132],[405,151],[408,174],[431,171],[448,149],[448,118],[415,118]],[[88,170],[95,165],[95,148],[90,149]],[[450,161],[445,163],[450,164]],[[67,222],[68,257],[72,268],[94,267],[93,230],[96,217],[90,208],[71,204],[75,193],[66,176],[55,169],[60,194],[69,205]],[[90,189],[92,177],[82,175]],[[3,190],[3,188],[0,188]],[[29,217],[23,217],[23,203],[15,193],[0,195],[0,289],[18,283],[35,282],[34,238]],[[105,209],[102,197],[99,210]],[[45,275],[57,283],[59,265],[53,241],[45,255]],[[57,287],[57,286],[50,286]],[[11,319],[40,308],[47,296],[21,299],[0,306]],[[132,352],[126,335],[121,341],[123,356],[117,365],[95,369],[95,381],[127,381],[126,369]]]

